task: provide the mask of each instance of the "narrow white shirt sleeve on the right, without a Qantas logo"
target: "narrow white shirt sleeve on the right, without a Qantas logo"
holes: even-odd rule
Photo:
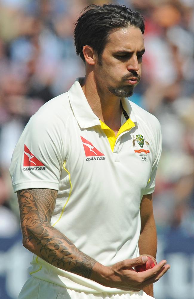
[[[155,144],[155,159],[153,161],[152,170],[150,173],[150,179],[145,188],[144,194],[151,194],[155,189],[155,176],[158,167],[158,163],[160,160],[161,152],[162,152],[162,134],[161,134],[161,126],[157,118],[155,118],[155,122],[152,127],[154,144]]]

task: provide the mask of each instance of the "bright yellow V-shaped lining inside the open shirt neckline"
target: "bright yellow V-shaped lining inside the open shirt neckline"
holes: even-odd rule
[[[123,133],[125,131],[128,131],[128,130],[132,129],[133,127],[135,127],[135,123],[130,118],[128,118],[127,121],[120,127],[120,129],[118,130],[117,135],[115,136],[115,132],[112,129],[110,129],[101,120],[100,120],[100,125],[101,125],[101,129],[104,131],[104,133],[106,134],[106,136],[108,138],[108,141],[110,143],[110,147],[111,147],[112,152],[114,150],[114,146],[115,146],[115,142],[116,142],[117,137],[121,133]]]

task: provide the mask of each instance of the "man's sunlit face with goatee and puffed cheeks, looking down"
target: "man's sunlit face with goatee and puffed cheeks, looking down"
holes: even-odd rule
[[[95,65],[94,76],[98,86],[103,86],[117,97],[130,97],[141,79],[144,51],[144,39],[139,28],[129,26],[113,30],[100,61]]]

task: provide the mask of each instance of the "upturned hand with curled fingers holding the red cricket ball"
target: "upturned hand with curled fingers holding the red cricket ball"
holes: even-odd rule
[[[94,279],[98,283],[111,288],[122,289],[125,291],[138,292],[146,286],[158,281],[170,269],[170,265],[166,265],[167,261],[162,260],[152,269],[136,272],[132,267],[142,265],[148,260],[147,256],[136,257],[134,259],[123,260],[113,266],[104,267],[103,269],[96,263],[93,267],[98,268],[99,279]],[[101,268],[101,269],[100,269]],[[101,273],[99,273],[99,270]],[[102,271],[101,271],[102,270]],[[95,275],[95,274],[94,274]]]

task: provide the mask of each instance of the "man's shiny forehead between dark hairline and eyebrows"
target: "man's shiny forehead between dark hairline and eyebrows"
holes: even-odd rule
[[[127,28],[113,30],[109,34],[105,49],[117,51],[121,48],[133,51],[141,51],[144,48],[144,37],[140,28],[128,26]]]

